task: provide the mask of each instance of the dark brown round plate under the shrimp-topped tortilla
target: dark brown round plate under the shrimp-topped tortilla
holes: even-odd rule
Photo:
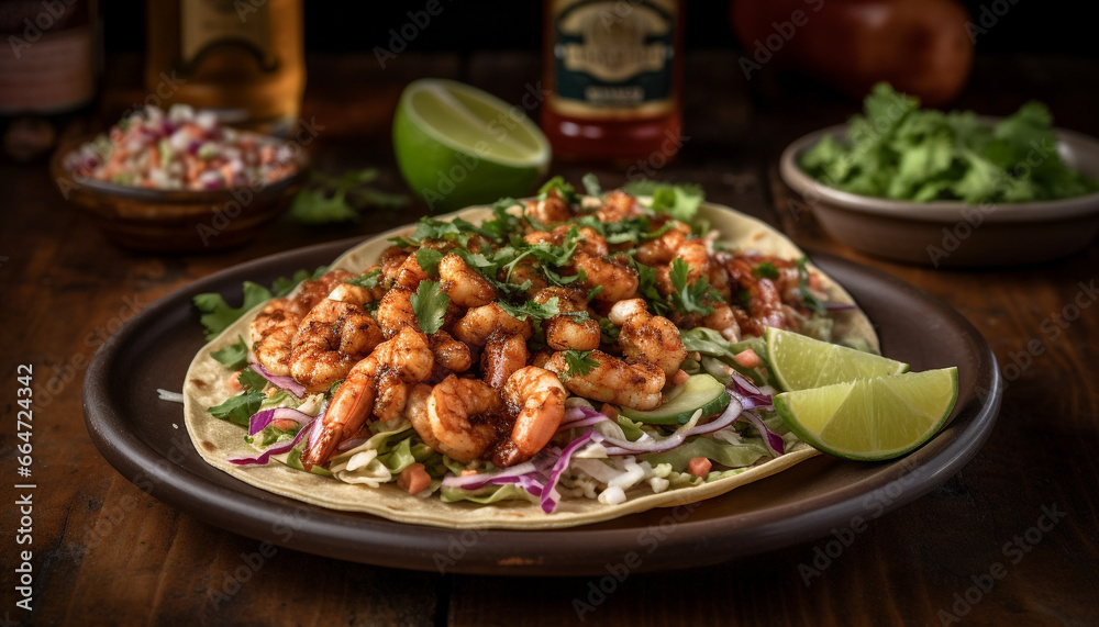
[[[240,299],[243,280],[276,277],[334,259],[357,240],[273,255],[211,275],[147,306],[96,354],[84,387],[88,432],[103,457],[156,499],[211,525],[296,550],[362,563],[439,572],[517,575],[606,574],[718,563],[829,535],[870,520],[953,477],[988,438],[1002,381],[991,349],[952,307],[899,279],[839,257],[811,255],[867,313],[885,355],[912,370],[957,366],[958,402],[947,426],[888,462],[826,456],[693,506],[658,508],[559,530],[455,530],[317,507],[270,494],[207,464],[186,434],[178,391],[204,344],[191,299]],[[632,555],[631,555],[632,553]]]

